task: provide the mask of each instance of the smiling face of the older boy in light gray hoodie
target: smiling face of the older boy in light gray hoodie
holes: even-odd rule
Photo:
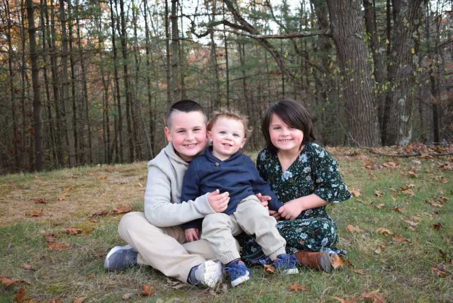
[[[206,147],[206,117],[199,111],[175,111],[170,125],[164,129],[167,141],[173,143],[181,159],[192,161]]]

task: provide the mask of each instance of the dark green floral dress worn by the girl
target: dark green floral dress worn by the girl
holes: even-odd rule
[[[338,163],[316,143],[308,142],[284,172],[277,155],[267,148],[258,154],[256,164],[261,177],[270,183],[282,203],[313,193],[331,203],[351,197],[341,179]],[[326,206],[307,209],[294,220],[278,221],[277,229],[286,240],[288,254],[299,250],[338,252],[335,247],[337,227],[327,214]],[[242,233],[236,239],[242,247],[242,259],[250,264],[266,262],[253,236]]]

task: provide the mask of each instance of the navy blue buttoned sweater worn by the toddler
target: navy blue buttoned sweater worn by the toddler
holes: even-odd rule
[[[256,193],[272,198],[268,205],[271,210],[278,210],[283,205],[271,190],[269,183],[261,178],[250,157],[238,151],[229,159],[221,161],[212,155],[212,146],[209,146],[190,163],[184,175],[181,201],[194,200],[216,189],[219,189],[220,193],[225,191],[230,193],[230,202],[223,211],[226,214],[235,212],[242,199]],[[199,229],[201,220],[187,222],[182,227]]]

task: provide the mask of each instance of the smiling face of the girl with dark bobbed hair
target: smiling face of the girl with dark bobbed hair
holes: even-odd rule
[[[285,152],[299,152],[304,132],[283,122],[279,116],[272,114],[269,123],[269,135],[272,144]]]

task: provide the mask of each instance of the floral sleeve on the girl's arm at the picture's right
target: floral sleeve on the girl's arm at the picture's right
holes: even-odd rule
[[[338,203],[351,197],[348,187],[341,179],[338,170],[338,162],[332,156],[316,143],[313,143],[312,157],[312,178],[315,183],[314,194],[320,198],[331,202]]]

